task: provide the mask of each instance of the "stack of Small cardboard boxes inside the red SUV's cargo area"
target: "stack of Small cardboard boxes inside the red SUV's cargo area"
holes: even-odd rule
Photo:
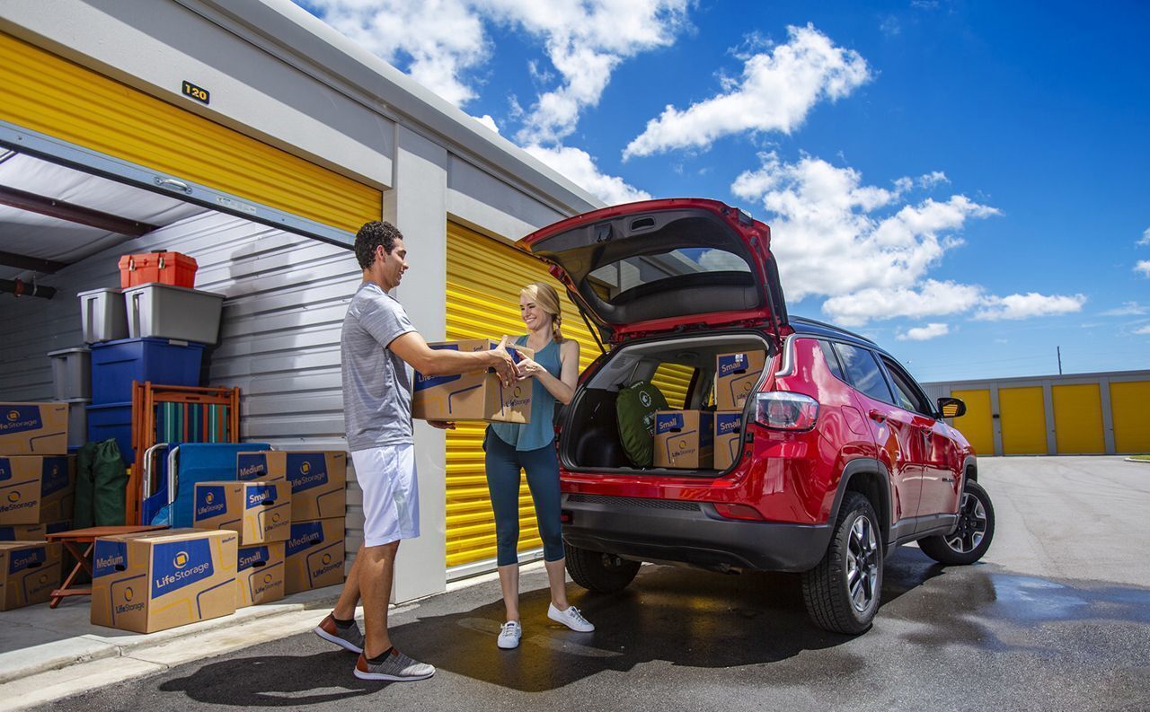
[[[762,376],[766,353],[715,357],[715,410],[660,410],[656,413],[654,466],[726,470],[738,459],[743,407]]]

